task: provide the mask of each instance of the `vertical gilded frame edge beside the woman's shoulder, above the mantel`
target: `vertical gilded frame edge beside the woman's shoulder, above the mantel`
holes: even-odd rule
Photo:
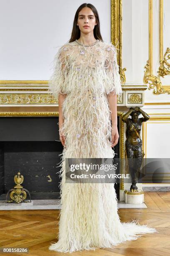
[[[126,68],[122,68],[122,0],[111,0],[111,42],[119,49],[117,64],[119,65],[120,79],[125,84]]]

